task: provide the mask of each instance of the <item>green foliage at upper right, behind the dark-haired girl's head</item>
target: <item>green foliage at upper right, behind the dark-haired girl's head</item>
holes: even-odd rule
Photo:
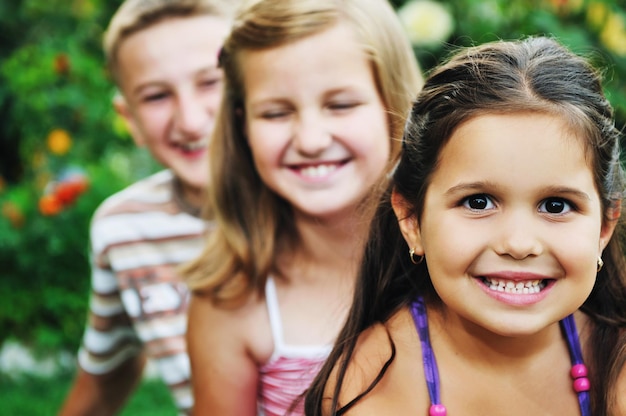
[[[453,28],[439,42],[415,44],[425,69],[457,46],[527,35],[556,36],[577,53],[605,69],[605,91],[616,108],[618,123],[626,125],[626,12],[616,0],[397,0],[399,7],[437,3],[452,17]],[[429,9],[430,10],[430,9]],[[432,12],[430,12],[432,13]],[[408,31],[437,31],[442,18],[435,13]],[[414,20],[417,22],[417,20]]]

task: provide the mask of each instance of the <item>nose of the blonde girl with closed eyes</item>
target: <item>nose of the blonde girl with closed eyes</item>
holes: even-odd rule
[[[318,156],[332,143],[324,118],[313,111],[301,114],[295,123],[293,146],[302,155]]]

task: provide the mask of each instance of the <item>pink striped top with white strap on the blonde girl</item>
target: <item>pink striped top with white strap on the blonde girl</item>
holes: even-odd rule
[[[259,369],[259,415],[300,416],[304,414],[304,402],[294,402],[309,387],[330,353],[331,346],[286,345],[276,296],[276,286],[269,278],[265,286],[274,353]]]

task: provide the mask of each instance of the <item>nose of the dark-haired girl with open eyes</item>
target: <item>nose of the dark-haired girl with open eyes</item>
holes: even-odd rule
[[[503,213],[496,224],[496,253],[516,260],[539,256],[543,252],[540,221],[532,212],[517,210]]]

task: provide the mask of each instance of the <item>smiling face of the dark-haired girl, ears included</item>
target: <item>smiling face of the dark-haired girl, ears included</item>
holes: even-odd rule
[[[399,218],[407,214],[394,196]],[[603,224],[582,139],[561,118],[482,115],[453,133],[422,218],[400,222],[433,285],[461,321],[506,336],[577,310],[613,232]]]

